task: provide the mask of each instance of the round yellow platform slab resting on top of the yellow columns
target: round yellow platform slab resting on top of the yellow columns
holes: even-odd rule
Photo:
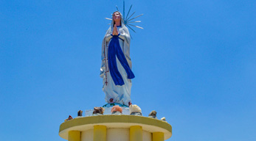
[[[165,140],[172,136],[172,126],[169,123],[150,117],[136,115],[97,115],[77,117],[60,125],[59,135],[68,140],[69,131],[87,131],[94,126],[106,126],[108,129],[128,129],[131,126],[142,126],[143,131],[150,133],[162,132]]]

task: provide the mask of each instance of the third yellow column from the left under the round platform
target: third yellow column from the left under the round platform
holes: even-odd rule
[[[130,127],[130,141],[142,141],[142,127],[131,126]]]

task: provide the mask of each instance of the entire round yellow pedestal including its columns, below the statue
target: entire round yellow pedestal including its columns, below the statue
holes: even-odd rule
[[[135,115],[78,117],[60,125],[69,141],[164,141],[172,136],[169,123]]]

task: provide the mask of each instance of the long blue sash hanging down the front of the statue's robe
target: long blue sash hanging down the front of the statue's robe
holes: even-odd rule
[[[119,35],[113,35],[109,45],[108,45],[108,68],[111,74],[111,77],[114,81],[114,84],[122,86],[125,84],[122,79],[122,75],[117,69],[117,60],[120,61],[122,67],[125,69],[127,73],[128,79],[134,79],[134,73],[131,71],[131,68],[128,65],[128,62],[125,58],[125,54],[123,54],[122,49],[119,43]]]

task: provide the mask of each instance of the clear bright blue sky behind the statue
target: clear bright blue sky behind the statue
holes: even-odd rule
[[[255,141],[256,1],[134,4],[131,99],[168,141]],[[101,43],[122,0],[0,1],[0,140],[63,141],[60,123],[105,104]],[[127,12],[126,12],[127,13]]]

